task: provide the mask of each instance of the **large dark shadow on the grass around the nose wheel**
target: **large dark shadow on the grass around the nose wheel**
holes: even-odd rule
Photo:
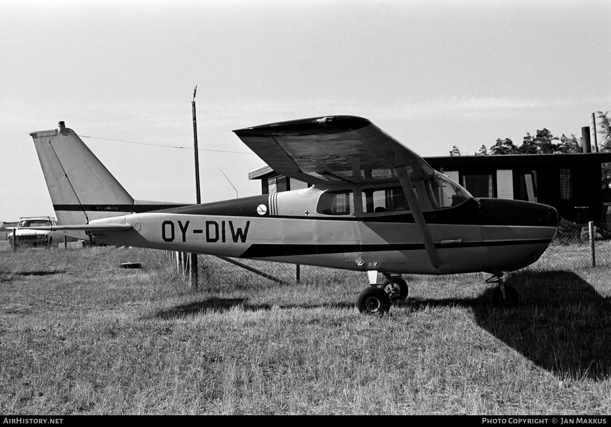
[[[411,300],[401,305],[412,310],[470,307],[479,326],[547,371],[573,379],[604,379],[611,374],[609,297],[570,271],[521,271],[505,283],[518,290],[518,307],[494,307],[494,286],[474,299]]]

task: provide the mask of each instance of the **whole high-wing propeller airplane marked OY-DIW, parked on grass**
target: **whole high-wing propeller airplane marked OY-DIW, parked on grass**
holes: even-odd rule
[[[31,133],[62,224],[53,228],[97,243],[367,272],[357,306],[379,314],[407,297],[401,273],[489,272],[493,302],[516,304],[502,272],[534,263],[557,231],[554,208],[474,198],[367,119],[234,132],[273,170],[313,186],[201,205],[134,200],[59,122]]]

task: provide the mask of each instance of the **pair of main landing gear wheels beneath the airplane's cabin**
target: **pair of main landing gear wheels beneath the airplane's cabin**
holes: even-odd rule
[[[386,280],[383,283],[376,283],[378,272],[368,272],[370,283],[365,288],[357,300],[357,307],[361,313],[383,316],[390,309],[391,301],[404,301],[408,297],[409,288],[401,276],[390,276],[389,273],[382,273]]]

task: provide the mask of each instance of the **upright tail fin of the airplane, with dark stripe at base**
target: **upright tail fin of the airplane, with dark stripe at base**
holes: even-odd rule
[[[30,135],[59,224],[89,224],[133,211],[131,195],[64,122]]]

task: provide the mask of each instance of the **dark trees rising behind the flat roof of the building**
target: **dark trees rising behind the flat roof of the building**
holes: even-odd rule
[[[600,151],[611,151],[611,117],[609,111],[596,113],[599,119],[598,133],[602,134],[601,141],[598,142]],[[487,148],[486,145],[481,145],[480,150],[475,153],[476,156],[488,155],[507,155],[507,154],[555,154],[555,153],[581,153],[582,141],[581,137],[577,139],[574,134],[571,136],[557,137],[547,130],[538,130],[533,136],[526,133],[522,145],[516,145],[510,138],[497,138],[496,143],[492,147]],[[460,156],[461,152],[456,147],[450,150],[450,156]]]

